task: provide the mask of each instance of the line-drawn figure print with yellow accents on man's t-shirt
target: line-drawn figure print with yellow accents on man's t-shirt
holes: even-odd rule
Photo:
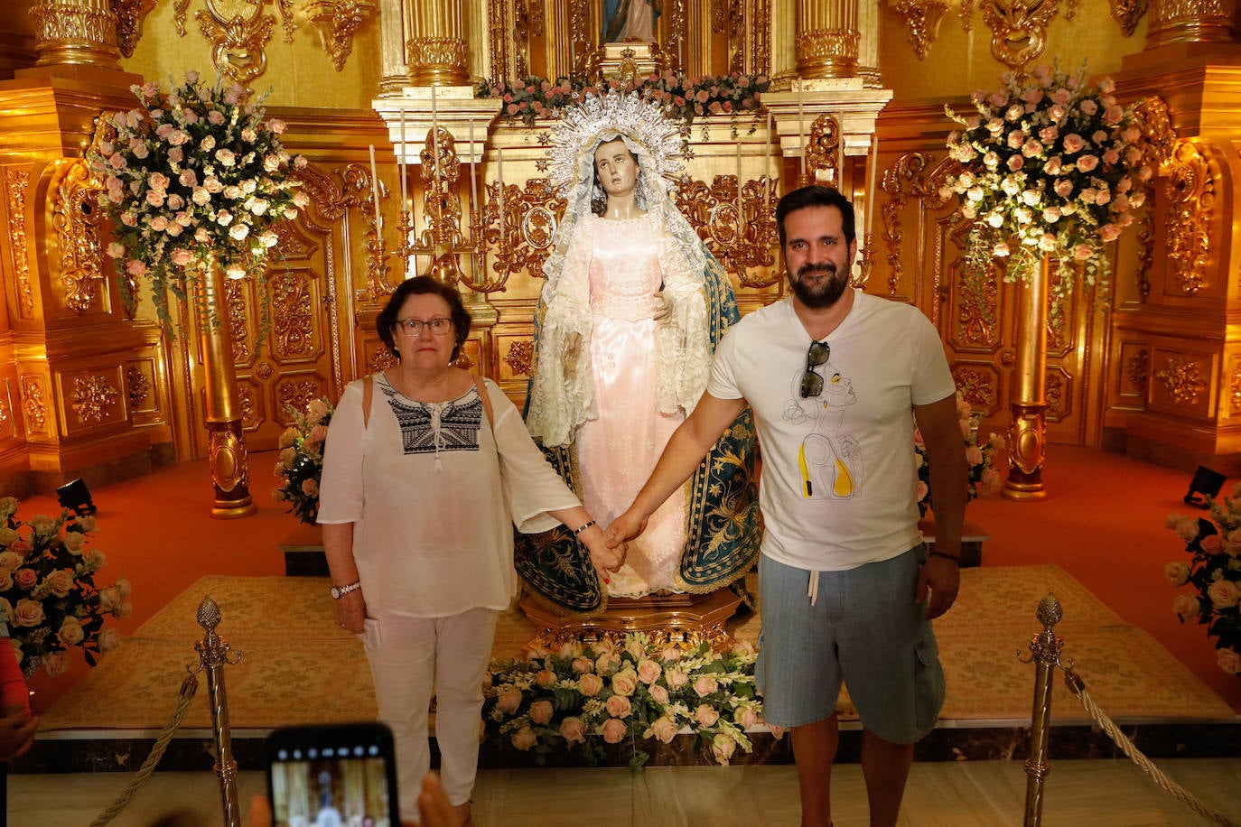
[[[853,381],[841,376],[830,360],[814,369],[823,377],[823,393],[803,399],[804,371],[799,369],[793,376],[791,399],[784,405],[784,422],[808,427],[797,454],[802,497],[846,500],[858,496],[862,487],[861,445],[845,427],[849,405],[858,397]]]

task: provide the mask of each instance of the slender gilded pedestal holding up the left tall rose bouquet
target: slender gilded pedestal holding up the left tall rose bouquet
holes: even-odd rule
[[[202,268],[200,283],[202,315],[199,319],[199,341],[206,372],[204,419],[207,423],[207,459],[215,485],[211,516],[218,520],[248,517],[258,507],[249,497],[249,470],[246,445],[242,443],[241,405],[237,402],[237,368],[223,305],[221,268]]]

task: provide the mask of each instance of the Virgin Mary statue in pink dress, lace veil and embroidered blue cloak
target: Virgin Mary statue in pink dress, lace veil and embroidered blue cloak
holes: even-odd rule
[[[683,150],[678,126],[633,93],[588,97],[552,139],[551,179],[567,206],[544,268],[526,427],[604,526],[697,404],[738,317],[727,274],[669,197]],[[522,534],[517,572],[578,613],[608,595],[714,591],[758,552],[755,495],[746,412],[629,543],[606,590],[563,529]]]

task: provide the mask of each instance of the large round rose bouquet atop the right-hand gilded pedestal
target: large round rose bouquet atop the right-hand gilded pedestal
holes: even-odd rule
[[[1133,107],[1116,102],[1116,84],[1086,82],[1039,66],[1029,81],[1005,73],[1005,88],[974,92],[974,114],[949,118],[964,126],[948,135],[949,156],[962,165],[942,195],[961,196],[961,212],[975,221],[968,269],[985,272],[1008,258],[1005,280],[1025,280],[1044,255],[1080,272],[1086,286],[1111,272],[1103,244],[1116,241],[1145,201],[1153,176],[1139,145]],[[1072,279],[1061,279],[1061,300]]]

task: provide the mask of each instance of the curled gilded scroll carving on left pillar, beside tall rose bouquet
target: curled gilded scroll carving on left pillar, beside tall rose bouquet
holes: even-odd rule
[[[61,284],[65,306],[73,312],[94,307],[104,281],[103,244],[99,241],[102,211],[96,203],[103,188],[86,161],[67,159],[57,164],[57,182],[51,203],[52,228],[61,252]]]

